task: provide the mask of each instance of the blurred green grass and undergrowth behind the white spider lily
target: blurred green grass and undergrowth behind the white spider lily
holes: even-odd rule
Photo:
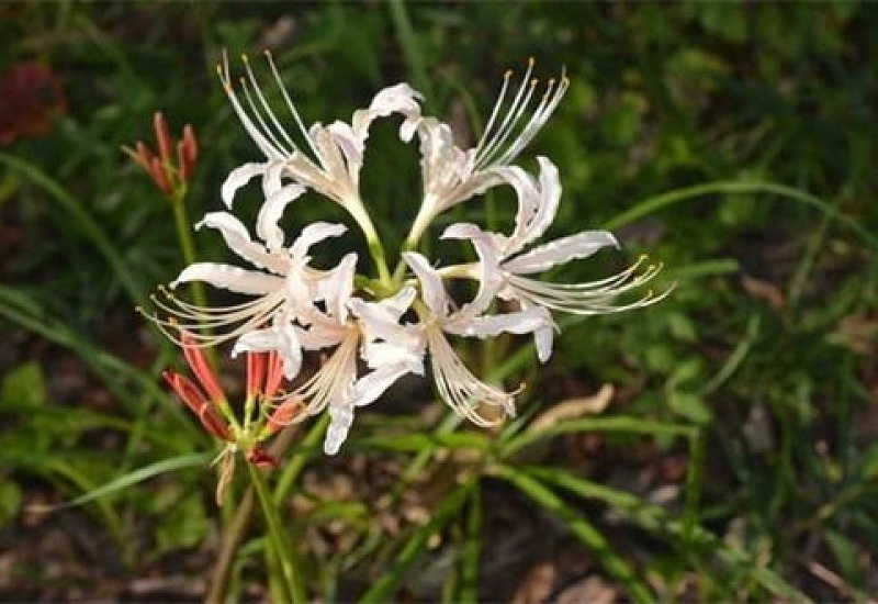
[[[214,596],[240,599],[263,593],[278,563],[261,516],[236,522],[234,505],[213,504],[215,472],[195,465],[213,445],[160,384],[181,361],[134,312],[183,266],[172,208],[121,150],[154,144],[155,111],[198,132],[196,220],[219,209],[228,170],[258,159],[215,77],[223,48],[271,45],[307,123],[348,120],[409,81],[427,112],[475,132],[504,71],[532,56],[540,78],[571,77],[527,154],[561,170],[547,237],[611,228],[675,290],[645,310],[562,318],[548,366],[524,338],[468,349],[479,373],[527,383],[498,432],[402,389],[359,413],[337,458],[304,425],[259,494],[280,504],[271,522],[293,532],[305,589],[508,600],[548,560],[555,595],[593,574],[639,602],[875,593],[876,27],[878,11],[854,2],[1,5],[0,74],[47,65],[67,105],[46,135],[0,149],[3,549],[23,560],[14,536],[34,506],[72,502],[128,580],[201,561],[205,585],[223,577]],[[415,152],[382,124],[372,143],[363,188],[391,238],[416,211]],[[248,194],[236,211],[252,219]],[[340,217],[305,201],[285,217],[292,231]],[[508,227],[506,202],[453,216]],[[358,241],[328,243],[329,258]],[[210,233],[195,246],[226,254]],[[606,268],[574,262],[564,277]],[[236,368],[224,365],[230,388]],[[605,383],[616,395],[604,414],[532,428]],[[254,497],[238,474],[233,504]],[[514,529],[517,558],[504,549]],[[228,553],[219,570],[216,551]],[[498,579],[500,555],[515,570]],[[104,562],[92,579],[111,580]],[[64,599],[76,584],[19,581],[0,594],[49,581]]]

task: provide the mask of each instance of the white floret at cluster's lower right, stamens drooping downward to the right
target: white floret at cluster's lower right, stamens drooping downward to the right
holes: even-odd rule
[[[455,413],[480,426],[498,422],[480,413],[482,405],[498,406],[506,415],[514,416],[516,393],[488,385],[473,376],[449,344],[446,332],[480,338],[503,332],[527,334],[544,327],[544,316],[536,310],[481,316],[472,312],[472,306],[451,312],[451,302],[439,272],[416,251],[404,253],[403,257],[420,282],[421,328],[439,395]]]

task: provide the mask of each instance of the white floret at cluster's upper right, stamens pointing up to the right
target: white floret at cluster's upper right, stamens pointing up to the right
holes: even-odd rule
[[[533,59],[515,93],[509,90],[513,71],[506,72],[484,133],[474,148],[463,150],[455,146],[451,128],[435,118],[417,121],[424,201],[407,237],[409,248],[414,248],[434,217],[499,184],[502,178],[495,170],[518,157],[552,116],[570,81],[562,70],[558,80],[549,80],[534,103],[539,80],[530,77],[532,71]],[[410,128],[401,131],[404,141],[408,141],[409,132]]]

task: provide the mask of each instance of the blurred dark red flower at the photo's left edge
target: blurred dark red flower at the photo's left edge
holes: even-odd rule
[[[0,145],[44,136],[67,103],[60,80],[45,65],[20,63],[0,77]]]

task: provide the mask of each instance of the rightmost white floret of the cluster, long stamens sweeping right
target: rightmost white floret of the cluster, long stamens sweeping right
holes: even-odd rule
[[[479,255],[476,267],[465,271],[480,281],[480,291],[473,301],[474,312],[486,310],[495,295],[516,301],[522,310],[541,309],[547,315],[547,309],[578,315],[606,314],[661,300],[664,294],[655,297],[648,292],[633,302],[615,303],[619,295],[642,287],[661,270],[660,266],[653,265],[642,269],[645,258],[609,278],[585,283],[552,283],[524,277],[573,259],[587,258],[604,247],[619,247],[616,237],[607,231],[584,231],[525,251],[545,233],[561,199],[558,169],[545,157],[537,160],[539,179],[518,167],[497,170],[518,195],[516,226],[511,235],[485,232],[470,223],[452,224],[442,234],[442,238],[470,239]],[[552,354],[551,326],[534,332],[534,339],[538,356],[545,362]]]

